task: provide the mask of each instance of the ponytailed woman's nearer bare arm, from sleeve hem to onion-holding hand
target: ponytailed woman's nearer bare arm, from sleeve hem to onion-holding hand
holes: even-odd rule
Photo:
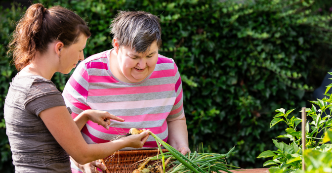
[[[65,106],[45,109],[39,116],[56,141],[79,164],[105,158],[124,147],[140,148],[149,136],[144,132],[107,143],[87,144]]]

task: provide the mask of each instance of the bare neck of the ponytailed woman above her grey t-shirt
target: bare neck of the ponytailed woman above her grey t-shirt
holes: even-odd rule
[[[22,73],[23,76],[39,75],[50,80],[56,72],[56,69],[54,63],[47,57],[49,56],[36,53],[34,60],[29,65],[24,67],[20,73]]]

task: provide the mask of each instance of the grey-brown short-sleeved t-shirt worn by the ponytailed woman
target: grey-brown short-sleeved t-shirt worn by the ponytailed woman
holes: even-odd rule
[[[37,75],[13,78],[4,119],[15,173],[71,173],[69,155],[39,117],[55,106],[66,105],[51,81]]]

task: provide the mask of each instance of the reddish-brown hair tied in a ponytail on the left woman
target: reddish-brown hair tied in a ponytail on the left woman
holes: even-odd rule
[[[61,41],[64,46],[76,43],[78,37],[91,33],[85,21],[61,6],[46,9],[41,3],[31,5],[21,18],[8,45],[17,70],[29,65],[36,51],[43,53],[49,43]]]

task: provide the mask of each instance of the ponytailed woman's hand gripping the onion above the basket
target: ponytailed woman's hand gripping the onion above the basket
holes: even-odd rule
[[[145,129],[143,129],[145,130]],[[119,140],[124,140],[126,147],[142,148],[146,140],[148,140],[150,130],[145,130],[140,134],[131,134],[130,136],[122,137]]]

